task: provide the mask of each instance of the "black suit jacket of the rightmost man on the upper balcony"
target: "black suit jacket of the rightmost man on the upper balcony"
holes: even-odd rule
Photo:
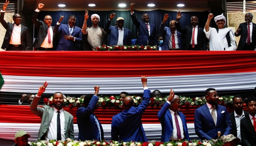
[[[255,23],[252,23],[252,44],[253,46],[256,46],[256,37],[255,37],[255,32],[256,32],[256,24]],[[239,43],[238,43],[238,46],[237,46],[237,49],[236,50],[243,50],[244,48],[244,45],[245,45],[245,42],[247,40],[247,34],[248,34],[248,31],[247,31],[247,23],[244,22],[244,23],[240,23],[239,27],[241,29],[240,33],[238,33],[236,35],[236,32],[235,32],[235,36],[239,36],[241,35],[240,37],[240,40],[239,40]]]

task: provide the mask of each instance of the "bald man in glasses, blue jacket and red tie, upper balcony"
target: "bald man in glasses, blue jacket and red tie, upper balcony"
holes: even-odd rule
[[[159,31],[165,35],[164,46],[162,50],[182,50],[181,33],[176,30],[175,20],[170,22],[170,27],[164,27],[168,14],[164,15],[164,20],[160,25]]]

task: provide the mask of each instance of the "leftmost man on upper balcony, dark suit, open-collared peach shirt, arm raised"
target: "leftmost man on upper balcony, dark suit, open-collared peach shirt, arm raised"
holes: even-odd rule
[[[0,15],[0,22],[3,25],[3,27],[6,29],[4,42],[1,48],[6,51],[29,50],[28,28],[20,24],[20,21],[21,21],[20,14],[16,13],[12,16],[12,19],[14,21],[13,24],[10,22],[6,22],[4,20],[4,12],[8,4],[9,4],[9,1],[7,2],[6,0]]]

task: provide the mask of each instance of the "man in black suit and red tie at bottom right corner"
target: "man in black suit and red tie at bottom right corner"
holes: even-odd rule
[[[245,100],[249,114],[241,119],[241,137],[243,146],[256,146],[256,98]]]

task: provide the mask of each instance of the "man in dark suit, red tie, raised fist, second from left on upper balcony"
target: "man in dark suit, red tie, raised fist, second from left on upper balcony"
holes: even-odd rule
[[[50,15],[46,15],[44,17],[44,21],[39,21],[37,19],[38,13],[40,9],[44,7],[44,4],[38,4],[33,16],[32,21],[37,30],[36,40],[33,44],[33,47],[38,51],[52,51],[54,50],[54,33],[52,26],[52,17]]]

